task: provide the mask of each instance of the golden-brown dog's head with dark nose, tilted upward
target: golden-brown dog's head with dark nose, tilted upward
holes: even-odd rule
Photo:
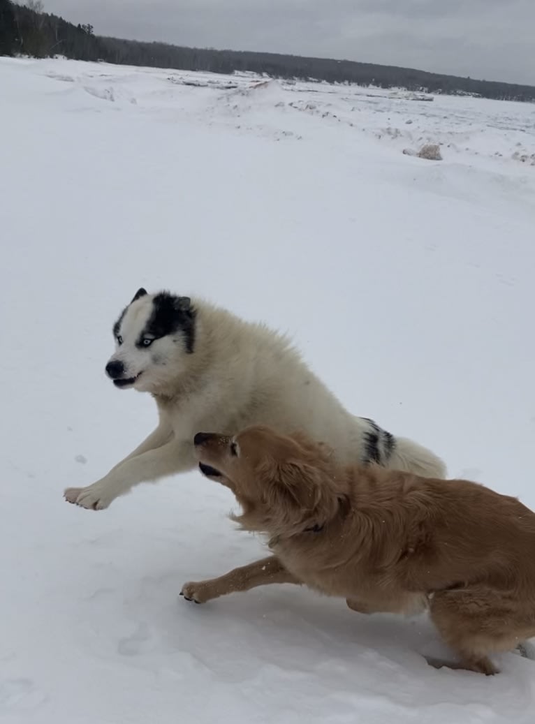
[[[337,512],[332,452],[301,434],[253,426],[234,436],[200,432],[194,444],[201,472],[235,494],[244,529],[295,534]]]

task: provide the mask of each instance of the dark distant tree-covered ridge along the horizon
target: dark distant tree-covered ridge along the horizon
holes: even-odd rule
[[[41,0],[28,0],[24,6],[10,0],[0,0],[0,55],[15,54],[37,58],[62,55],[76,60],[226,74],[235,70],[252,71],[279,78],[327,80],[329,83],[406,88],[428,93],[469,94],[507,101],[535,101],[535,87],[530,85],[473,80],[349,60],[182,48],[167,43],[106,38],[95,35],[89,23],[73,25],[62,17],[43,12]]]

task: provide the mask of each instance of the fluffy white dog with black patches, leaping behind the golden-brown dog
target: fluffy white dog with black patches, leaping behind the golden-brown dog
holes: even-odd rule
[[[342,464],[374,461],[445,477],[432,452],[345,410],[289,340],[263,324],[203,300],[139,290],[114,334],[117,350],[106,371],[117,387],[151,392],[159,425],[104,478],[65,490],[69,502],[107,508],[143,481],[194,468],[196,432],[233,434],[253,424],[303,430],[333,447]]]

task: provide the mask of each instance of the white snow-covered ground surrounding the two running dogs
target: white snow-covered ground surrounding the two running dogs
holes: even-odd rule
[[[179,599],[264,555],[200,473],[62,500],[155,422],[104,376],[143,285],[290,332],[352,411],[535,508],[535,105],[257,82],[0,59],[1,723],[532,723],[534,661],[434,670],[425,618]]]

